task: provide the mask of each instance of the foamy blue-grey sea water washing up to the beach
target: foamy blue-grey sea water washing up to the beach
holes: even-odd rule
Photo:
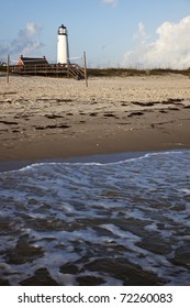
[[[0,285],[190,285],[190,151],[0,173]]]

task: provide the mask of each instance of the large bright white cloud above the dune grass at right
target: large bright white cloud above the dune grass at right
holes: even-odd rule
[[[149,42],[144,24],[135,35],[137,45],[123,56],[124,66],[142,68],[188,68],[190,66],[190,15],[178,23],[164,22],[156,31],[157,40]]]

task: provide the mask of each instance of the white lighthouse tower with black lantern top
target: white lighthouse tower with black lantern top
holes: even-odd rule
[[[57,63],[69,64],[68,33],[64,24],[58,28]]]

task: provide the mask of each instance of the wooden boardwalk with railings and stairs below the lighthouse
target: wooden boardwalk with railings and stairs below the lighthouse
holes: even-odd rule
[[[20,75],[65,76],[85,79],[85,69],[78,64],[10,65],[9,72]]]

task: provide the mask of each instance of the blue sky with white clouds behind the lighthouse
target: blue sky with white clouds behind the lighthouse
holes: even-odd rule
[[[43,56],[56,62],[57,29],[70,57],[91,67],[190,66],[190,0],[0,0],[0,61]],[[75,61],[74,61],[75,62]]]

